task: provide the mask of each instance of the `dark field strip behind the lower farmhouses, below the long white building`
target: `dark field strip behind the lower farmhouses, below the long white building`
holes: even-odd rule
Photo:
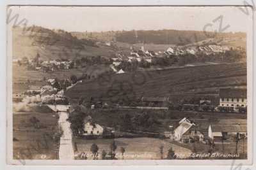
[[[140,110],[140,109],[128,109],[128,110],[118,110],[118,109],[109,109],[109,110],[91,110],[88,112],[93,120],[102,126],[105,127],[114,127],[116,130],[121,128],[125,124],[124,117],[129,115],[131,118],[131,129],[134,132],[143,131],[143,132],[156,132],[163,134],[166,131],[173,131],[170,128],[170,125],[173,128],[177,127],[178,122],[186,117],[189,120],[195,120],[196,125],[200,125],[205,132],[208,132],[207,129],[211,123],[217,122],[218,120],[230,119],[230,118],[239,118],[246,119],[246,114],[243,113],[223,113],[223,112],[198,112],[198,111],[175,111],[175,110]],[[136,120],[140,120],[141,115],[147,113],[148,122],[150,120],[157,120],[157,123],[150,123],[150,125],[139,124]],[[139,121],[139,122],[140,122]],[[142,121],[141,121],[142,122]]]

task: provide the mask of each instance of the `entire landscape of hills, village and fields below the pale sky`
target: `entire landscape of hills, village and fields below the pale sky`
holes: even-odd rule
[[[13,30],[15,159],[246,159],[245,34]]]

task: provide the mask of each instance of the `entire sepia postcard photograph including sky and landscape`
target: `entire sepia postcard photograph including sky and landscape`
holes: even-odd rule
[[[8,159],[250,160],[239,8],[9,6]]]

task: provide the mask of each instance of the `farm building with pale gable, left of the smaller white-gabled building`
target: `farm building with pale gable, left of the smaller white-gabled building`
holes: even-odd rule
[[[204,134],[200,132],[200,129],[188,118],[182,118],[179,122],[179,126],[174,130],[174,139],[183,143],[188,143],[190,139],[198,138],[202,141]]]

